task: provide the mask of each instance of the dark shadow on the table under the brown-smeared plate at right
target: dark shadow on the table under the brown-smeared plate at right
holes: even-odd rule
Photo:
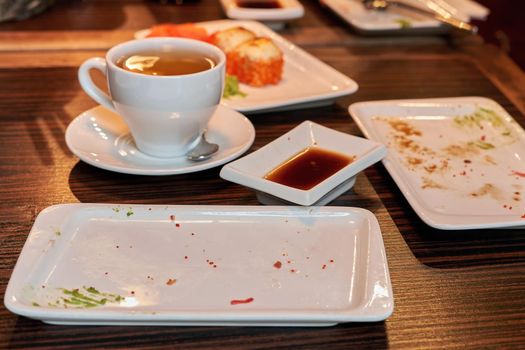
[[[386,181],[380,184],[374,180],[377,176]],[[408,247],[422,264],[456,269],[525,262],[523,228],[438,230],[419,218],[383,166],[371,169],[369,177]]]

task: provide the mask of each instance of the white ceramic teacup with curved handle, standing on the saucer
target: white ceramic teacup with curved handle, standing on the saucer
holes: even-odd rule
[[[121,57],[151,51],[197,53],[216,65],[197,73],[164,76],[134,73],[116,65]],[[124,119],[140,151],[154,157],[178,157],[199,143],[220,103],[225,62],[219,48],[202,41],[148,38],[114,46],[105,60],[86,60],[78,79],[91,98]],[[111,96],[93,83],[91,69],[106,76]]]

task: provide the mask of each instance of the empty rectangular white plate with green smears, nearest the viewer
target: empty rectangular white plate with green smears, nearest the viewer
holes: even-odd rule
[[[84,325],[330,326],[393,311],[377,219],[342,207],[52,206],[4,303]]]

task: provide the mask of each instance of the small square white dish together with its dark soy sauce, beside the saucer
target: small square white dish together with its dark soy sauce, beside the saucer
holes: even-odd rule
[[[225,165],[220,176],[254,189],[263,204],[325,205],[386,152],[381,143],[305,121]]]

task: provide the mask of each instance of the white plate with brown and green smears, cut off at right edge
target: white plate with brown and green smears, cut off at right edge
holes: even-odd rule
[[[386,144],[383,164],[428,225],[525,225],[525,132],[495,101],[374,101],[349,111],[368,138]]]

